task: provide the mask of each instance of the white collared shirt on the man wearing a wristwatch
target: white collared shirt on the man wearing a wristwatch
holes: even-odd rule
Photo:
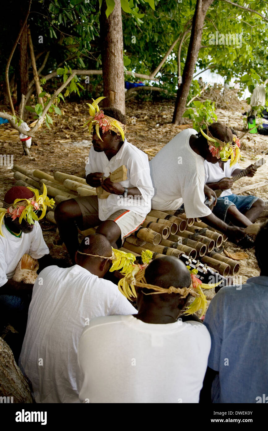
[[[86,164],[86,175],[93,172],[104,172],[108,177],[110,172],[125,165],[127,169],[127,180],[121,181],[123,187],[138,187],[142,197],[125,199],[122,206],[122,196],[110,194],[107,199],[99,199],[99,219],[106,220],[111,214],[119,209],[129,209],[136,214],[145,217],[151,210],[151,197],[154,195],[153,184],[150,177],[148,156],[134,145],[124,140],[118,153],[108,160],[104,151],[98,153],[93,147],[90,148],[88,163]]]

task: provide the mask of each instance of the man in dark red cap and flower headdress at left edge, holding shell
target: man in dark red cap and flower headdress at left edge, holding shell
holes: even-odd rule
[[[11,187],[5,194],[5,208],[0,208],[1,319],[7,315],[10,318],[13,311],[28,309],[33,284],[12,280],[22,256],[29,254],[38,259],[40,270],[51,265],[52,258],[37,220],[45,215],[46,206],[53,204],[46,193],[39,196],[37,190],[28,187]]]

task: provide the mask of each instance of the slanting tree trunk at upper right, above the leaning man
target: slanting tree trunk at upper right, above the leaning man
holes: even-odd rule
[[[172,122],[176,125],[182,122],[182,116],[185,111],[186,100],[194,75],[194,68],[201,47],[203,23],[206,17],[206,12],[209,6],[213,3],[213,1],[214,0],[197,0],[195,6],[188,53],[182,74],[182,83],[177,91],[177,98],[172,119]]]

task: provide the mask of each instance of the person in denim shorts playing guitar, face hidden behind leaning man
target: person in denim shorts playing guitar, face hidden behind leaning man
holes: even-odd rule
[[[238,196],[231,192],[234,183],[232,177],[241,172],[238,163],[230,167],[230,160],[218,162],[214,165],[204,161],[205,182],[212,190],[222,190],[217,203],[213,208],[213,214],[223,221],[232,222],[234,225],[246,227],[251,225],[262,213],[265,202],[253,195]],[[247,177],[253,177],[256,168],[248,166]]]

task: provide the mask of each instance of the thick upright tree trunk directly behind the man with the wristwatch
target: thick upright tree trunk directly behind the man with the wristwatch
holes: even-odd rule
[[[104,106],[125,113],[125,84],[123,63],[123,29],[120,0],[115,0],[113,12],[106,18],[106,3],[102,2],[100,34],[102,38],[102,76]]]

